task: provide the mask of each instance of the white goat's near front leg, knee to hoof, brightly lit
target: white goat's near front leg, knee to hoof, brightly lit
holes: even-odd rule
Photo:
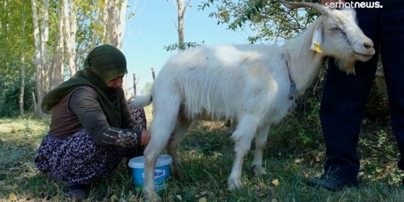
[[[251,147],[252,138],[257,130],[258,121],[252,115],[244,116],[237,129],[232,134],[235,140],[235,161],[233,163],[232,172],[228,178],[229,189],[242,188],[241,172],[244,157]]]

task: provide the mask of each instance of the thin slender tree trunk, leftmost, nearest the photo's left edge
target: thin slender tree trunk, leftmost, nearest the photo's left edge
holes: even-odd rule
[[[20,95],[18,96],[18,103],[20,105],[20,115],[24,114],[24,89],[26,85],[26,72],[25,72],[25,36],[26,36],[26,12],[24,11],[25,0],[21,0],[21,70],[20,70]]]

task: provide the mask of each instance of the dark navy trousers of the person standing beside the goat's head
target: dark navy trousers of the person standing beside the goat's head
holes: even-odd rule
[[[369,0],[368,0],[369,1]],[[325,172],[354,178],[359,172],[359,130],[375,79],[378,47],[388,88],[391,126],[404,156],[404,1],[379,0],[382,9],[356,9],[359,27],[374,42],[376,54],[357,62],[356,75],[347,75],[330,60],[320,106],[325,137]],[[404,160],[398,162],[404,169]]]

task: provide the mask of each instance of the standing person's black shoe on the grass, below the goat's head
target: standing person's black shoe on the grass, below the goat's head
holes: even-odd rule
[[[320,186],[329,191],[340,191],[345,187],[359,187],[359,180],[347,179],[337,174],[324,174],[320,179],[310,178],[308,179],[309,186]]]

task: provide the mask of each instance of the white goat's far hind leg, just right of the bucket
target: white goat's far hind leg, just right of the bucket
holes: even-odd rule
[[[184,172],[179,169],[181,165],[181,160],[178,157],[178,147],[179,143],[184,139],[186,131],[188,131],[189,126],[191,126],[192,121],[191,120],[179,120],[179,126],[175,131],[174,134],[174,141],[171,143],[171,145],[168,145],[167,147],[167,153],[172,157],[172,170],[173,173],[176,177],[178,178],[184,178]]]

